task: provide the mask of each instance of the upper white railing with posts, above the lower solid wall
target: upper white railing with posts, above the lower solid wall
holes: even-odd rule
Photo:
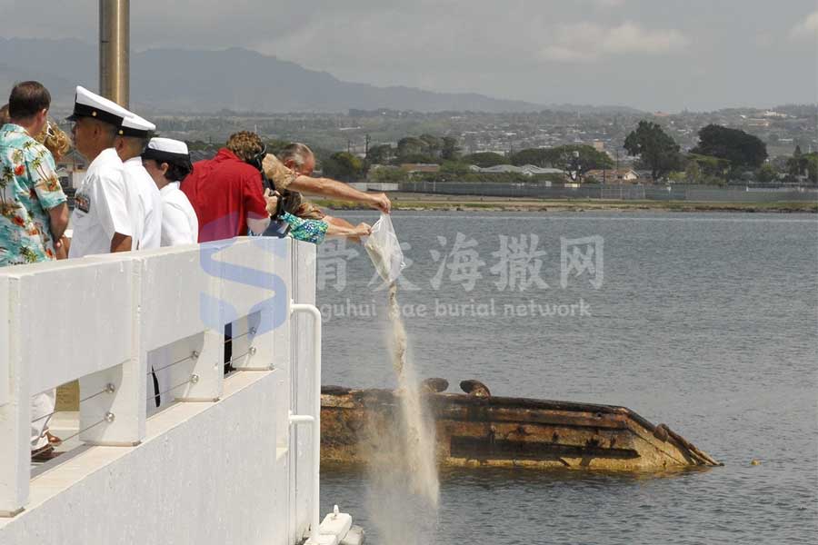
[[[176,401],[223,396],[232,323],[234,367],[281,372],[276,393],[289,398],[274,416],[289,540],[316,526],[320,315],[298,334],[291,320],[314,303],[314,260],[312,245],[239,238],[0,269],[0,516],[29,498],[32,394],[79,379],[80,440],[133,447],[145,439],[151,364]],[[314,434],[299,438],[290,413],[313,417]]]

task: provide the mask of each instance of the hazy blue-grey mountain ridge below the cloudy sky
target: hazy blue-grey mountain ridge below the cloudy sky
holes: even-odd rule
[[[0,86],[5,88],[19,80],[20,74],[29,74],[29,78],[49,87],[55,105],[66,106],[73,98],[75,84],[96,87],[95,45],[76,38],[0,38],[0,49],[5,52],[0,62]],[[328,72],[241,47],[150,48],[132,52],[130,63],[131,103],[155,113],[345,113],[350,109],[524,113],[571,109],[477,93],[438,93],[405,85],[381,87],[345,82]],[[618,106],[577,109],[636,111]]]

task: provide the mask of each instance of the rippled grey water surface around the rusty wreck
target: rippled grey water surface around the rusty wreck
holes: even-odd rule
[[[475,378],[495,395],[624,405],[725,464],[664,476],[445,472],[437,519],[404,543],[818,542],[815,216],[394,213],[393,220],[411,245],[405,278],[419,288],[404,286],[399,297],[420,376],[444,377],[450,391]],[[483,276],[469,291],[462,277],[450,277],[463,270],[444,268],[434,289],[440,261],[432,251],[451,252],[456,233],[476,242]],[[525,234],[530,244],[532,233],[535,250],[546,252],[536,259],[548,288],[499,289],[490,269],[500,261],[493,255],[500,235]],[[592,236],[604,239],[602,285],[594,288],[585,271],[562,287],[561,237]],[[350,250],[358,255],[346,259]],[[324,383],[393,387],[386,293],[369,285],[372,264],[352,244],[328,243],[322,253]],[[343,272],[338,265],[345,286],[333,278]],[[494,315],[478,315],[493,300]],[[590,316],[503,312],[580,301]],[[360,304],[377,315],[361,316]],[[427,315],[412,316],[421,304]],[[465,315],[435,315],[446,305],[465,305]],[[350,309],[359,315],[339,315]],[[366,528],[368,542],[384,543],[368,483],[365,473],[324,471],[323,510],[339,504]]]

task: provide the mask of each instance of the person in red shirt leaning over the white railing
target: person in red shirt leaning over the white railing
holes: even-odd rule
[[[264,233],[276,197],[264,190],[261,173],[248,161],[264,151],[258,134],[232,134],[213,159],[198,161],[182,191],[199,220],[199,243]]]

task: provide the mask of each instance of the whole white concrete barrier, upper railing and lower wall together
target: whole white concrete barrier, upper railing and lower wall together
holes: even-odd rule
[[[318,381],[290,302],[314,302],[314,268],[314,245],[234,239],[0,271],[0,544],[301,540],[316,468],[288,413]],[[162,362],[180,402],[148,418]],[[31,479],[28,400],[75,379],[85,446]]]

